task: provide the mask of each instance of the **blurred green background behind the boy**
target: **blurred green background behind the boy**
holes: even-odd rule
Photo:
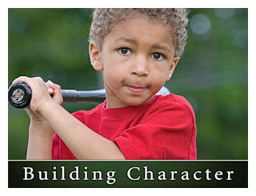
[[[8,85],[41,76],[62,89],[101,89],[90,66],[90,9],[9,9]],[[188,39],[166,87],[186,97],[197,120],[198,159],[248,158],[247,9],[190,9]],[[94,105],[64,103],[66,110]],[[30,120],[8,106],[9,159],[25,159]]]

